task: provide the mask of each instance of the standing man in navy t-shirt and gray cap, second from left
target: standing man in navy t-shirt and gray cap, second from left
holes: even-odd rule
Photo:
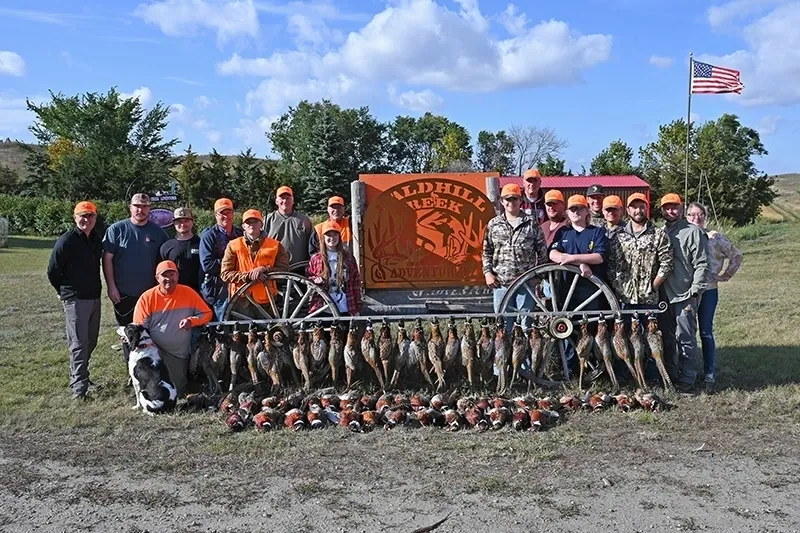
[[[155,284],[153,273],[161,245],[169,240],[167,233],[149,220],[149,196],[134,194],[129,209],[130,218],[111,224],[103,238],[103,274],[120,326],[130,324],[139,296]],[[123,354],[127,361],[124,345]]]

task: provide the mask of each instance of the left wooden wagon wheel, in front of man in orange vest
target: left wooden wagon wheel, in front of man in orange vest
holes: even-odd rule
[[[239,288],[228,302],[225,309],[225,320],[265,320],[281,319],[282,322],[296,324],[315,316],[339,316],[339,309],[327,292],[311,282],[308,278],[291,272],[270,272],[267,281],[274,281],[278,289],[273,295],[266,291],[269,301],[259,303],[248,289],[263,281],[251,281]],[[322,299],[322,306],[309,313],[312,296]]]

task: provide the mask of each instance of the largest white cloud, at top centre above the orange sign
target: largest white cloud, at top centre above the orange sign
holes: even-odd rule
[[[252,59],[233,54],[217,70],[267,78],[248,93],[247,107],[252,111],[257,104],[272,115],[301,98],[353,100],[392,83],[420,92],[571,84],[609,57],[609,35],[580,35],[565,22],[549,20],[522,25],[519,35],[498,40],[476,0],[458,5],[452,11],[434,0],[391,2],[334,50],[281,50]]]

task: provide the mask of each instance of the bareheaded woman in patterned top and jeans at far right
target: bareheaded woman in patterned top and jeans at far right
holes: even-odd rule
[[[686,219],[706,230],[708,234],[708,289],[700,296],[697,308],[697,322],[700,329],[700,341],[703,344],[703,389],[713,394],[716,382],[717,345],[714,341],[714,313],[719,301],[720,282],[728,281],[742,266],[742,252],[722,233],[710,230],[706,226],[708,210],[703,204],[692,202],[686,208]],[[725,260],[728,265],[723,271]]]

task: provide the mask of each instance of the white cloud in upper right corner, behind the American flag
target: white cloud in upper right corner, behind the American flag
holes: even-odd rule
[[[744,28],[747,49],[699,61],[741,71],[744,105],[800,102],[800,2],[781,5]]]

